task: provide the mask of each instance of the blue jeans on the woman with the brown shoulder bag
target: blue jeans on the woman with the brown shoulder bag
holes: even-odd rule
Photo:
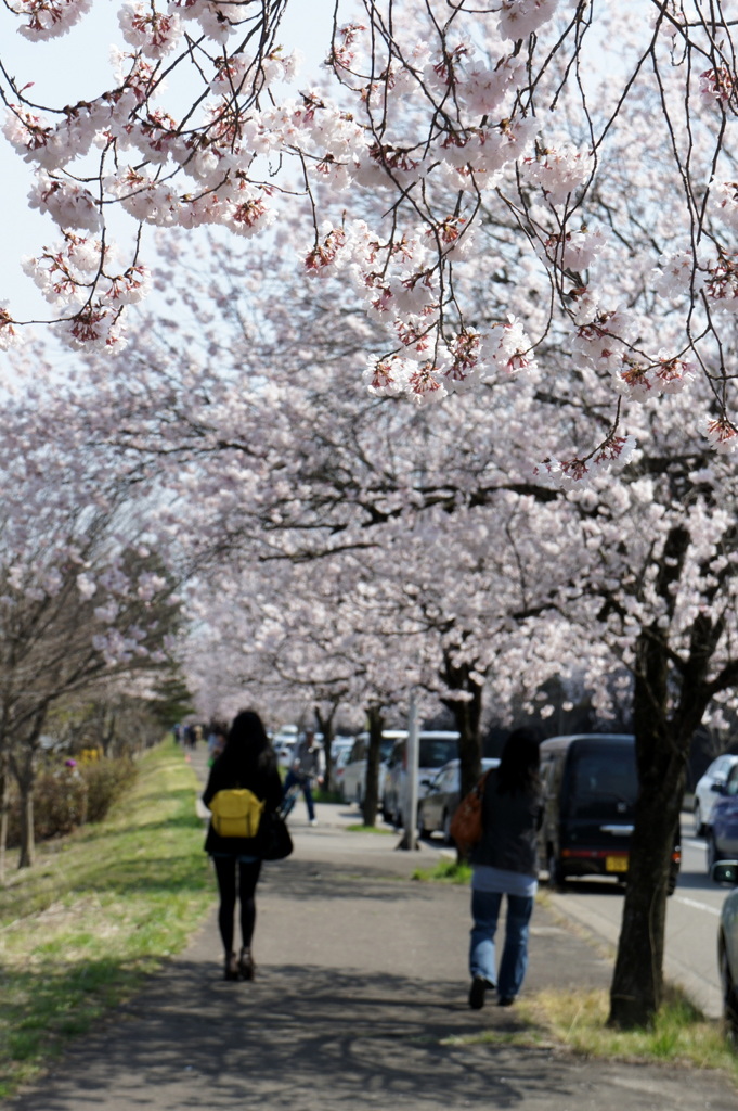
[[[505,947],[499,962],[499,979],[495,964],[495,933],[503,897],[498,891],[472,891],[472,943],[469,972],[497,984],[501,999],[515,999],[528,967],[528,923],[533,913],[532,895],[507,895]]]

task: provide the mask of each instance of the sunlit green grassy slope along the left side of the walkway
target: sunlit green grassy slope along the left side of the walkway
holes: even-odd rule
[[[0,889],[0,1099],[184,948],[212,905],[195,779],[165,742],[98,825]]]

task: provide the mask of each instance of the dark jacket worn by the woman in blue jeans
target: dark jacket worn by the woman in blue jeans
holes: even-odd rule
[[[487,775],[482,801],[482,840],[469,853],[473,864],[538,875],[538,830],[543,799],[538,791],[498,794],[497,775]]]

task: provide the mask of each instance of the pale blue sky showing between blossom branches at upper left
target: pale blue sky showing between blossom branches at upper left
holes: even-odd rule
[[[94,0],[88,16],[68,34],[31,43],[18,34],[17,20],[0,6],[0,59],[20,86],[33,82],[28,96],[39,103],[63,106],[91,99],[112,84],[110,47],[123,46],[118,10],[117,0]],[[332,0],[293,0],[287,9],[281,41],[287,51],[301,50],[303,73],[316,69],[325,56],[332,13]],[[23,256],[36,254],[58,239],[50,217],[29,209],[31,183],[30,168],[0,133],[0,303],[9,302],[17,319],[48,319],[49,306],[20,267]]]

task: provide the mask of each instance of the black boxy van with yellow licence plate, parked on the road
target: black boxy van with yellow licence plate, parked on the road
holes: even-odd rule
[[[570,877],[628,878],[638,792],[635,738],[623,733],[554,737],[540,745],[544,817],[540,858],[552,887]],[[677,883],[681,849],[674,845],[668,893]]]

